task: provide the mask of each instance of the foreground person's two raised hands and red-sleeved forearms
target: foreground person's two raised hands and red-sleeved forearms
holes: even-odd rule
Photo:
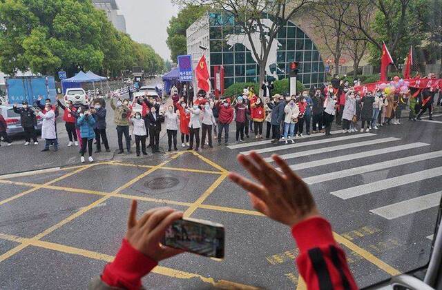
[[[249,191],[253,208],[290,227],[300,252],[296,264],[307,289],[358,289],[345,253],[334,240],[330,223],[320,216],[309,187],[282,158],[272,158],[282,172],[251,152],[238,155],[238,161],[259,183],[233,172],[229,178]],[[141,278],[158,262],[182,253],[160,243],[166,229],[182,218],[182,212],[160,207],[136,220],[136,210],[133,200],[122,247],[101,278],[90,282],[89,289],[142,289]]]

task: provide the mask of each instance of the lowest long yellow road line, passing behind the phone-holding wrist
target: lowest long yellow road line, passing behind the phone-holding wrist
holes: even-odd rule
[[[52,251],[59,251],[61,253],[69,253],[77,256],[83,256],[86,258],[91,258],[94,260],[102,260],[105,262],[112,262],[115,257],[106,255],[105,253],[98,253],[95,251],[88,251],[85,249],[79,249],[76,247],[70,247],[66,245],[57,244],[55,242],[46,242],[42,240],[32,240],[28,238],[21,238],[18,236],[12,236],[7,234],[0,234],[0,238],[4,240],[10,240],[13,242],[22,242],[22,243],[28,243],[28,245],[32,245],[35,247],[41,247],[44,249],[49,249]],[[24,244],[22,244],[24,245]],[[246,284],[240,284],[237,282],[231,282],[226,280],[214,280],[213,278],[207,278],[204,276],[201,276],[197,273],[189,273],[185,271],[180,271],[176,269],[171,269],[169,267],[162,267],[157,266],[152,270],[152,273],[157,273],[164,276],[169,276],[173,278],[179,278],[179,279],[192,279],[192,278],[199,278],[203,282],[212,284],[213,287],[218,287],[222,289],[258,289],[257,287],[249,286]],[[97,273],[97,276],[99,273]]]

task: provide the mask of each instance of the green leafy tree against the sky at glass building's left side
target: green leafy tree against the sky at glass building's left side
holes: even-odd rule
[[[171,50],[171,59],[177,61],[178,55],[187,53],[186,30],[197,19],[207,12],[206,6],[198,6],[190,3],[184,6],[177,16],[172,17],[167,27],[167,46]]]

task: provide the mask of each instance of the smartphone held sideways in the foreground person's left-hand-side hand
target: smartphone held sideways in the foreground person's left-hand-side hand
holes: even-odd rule
[[[208,220],[182,218],[166,229],[162,244],[201,256],[224,258],[224,226]]]

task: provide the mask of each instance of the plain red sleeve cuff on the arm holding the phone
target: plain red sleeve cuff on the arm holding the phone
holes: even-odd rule
[[[137,251],[124,239],[115,260],[104,267],[102,280],[111,287],[139,290],[141,278],[156,266],[155,260]]]

